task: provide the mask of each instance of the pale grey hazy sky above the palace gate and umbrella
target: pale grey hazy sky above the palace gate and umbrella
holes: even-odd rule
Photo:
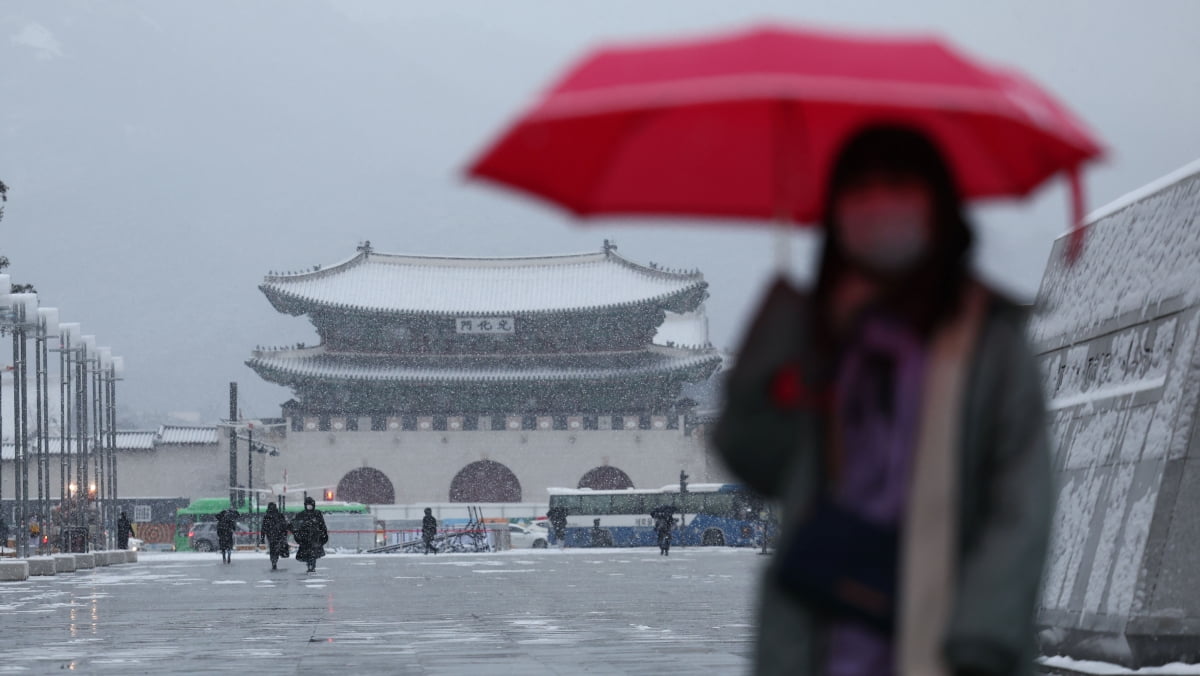
[[[772,271],[763,228],[599,221],[461,169],[589,46],[763,20],[932,31],[1024,70],[1111,149],[1092,208],[1200,156],[1200,2],[391,2],[0,5],[0,252],[14,281],[125,355],[124,407],[277,415],[242,363],[314,342],[257,285],[379,251],[594,251],[704,271],[712,337],[736,345]],[[1067,225],[1060,181],[977,211],[980,267],[1032,297]],[[805,277],[814,240],[796,237]]]

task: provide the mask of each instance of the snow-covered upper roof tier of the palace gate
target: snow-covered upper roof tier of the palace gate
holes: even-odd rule
[[[360,247],[329,268],[271,274],[259,288],[276,310],[320,307],[401,315],[504,316],[659,304],[688,312],[704,299],[698,271],[640,265],[606,246],[594,253],[451,258]]]

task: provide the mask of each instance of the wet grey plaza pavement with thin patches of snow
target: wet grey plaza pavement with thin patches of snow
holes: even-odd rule
[[[0,672],[742,674],[748,550],[238,552],[0,584]]]

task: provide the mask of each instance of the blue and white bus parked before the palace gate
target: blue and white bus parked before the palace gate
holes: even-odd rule
[[[550,508],[566,508],[566,546],[593,546],[594,536],[612,546],[656,546],[650,512],[674,507],[672,544],[685,546],[758,546],[762,544],[761,498],[737,484],[692,484],[661,489],[547,489]],[[594,520],[600,533],[594,533]],[[551,533],[551,544],[558,544]]]

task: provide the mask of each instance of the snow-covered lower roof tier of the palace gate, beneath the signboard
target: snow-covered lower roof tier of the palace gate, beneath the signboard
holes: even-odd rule
[[[650,346],[629,352],[582,354],[390,355],[330,353],[324,347],[256,352],[246,365],[269,381],[328,378],[392,382],[598,381],[631,376],[698,372],[720,363],[713,349]]]

